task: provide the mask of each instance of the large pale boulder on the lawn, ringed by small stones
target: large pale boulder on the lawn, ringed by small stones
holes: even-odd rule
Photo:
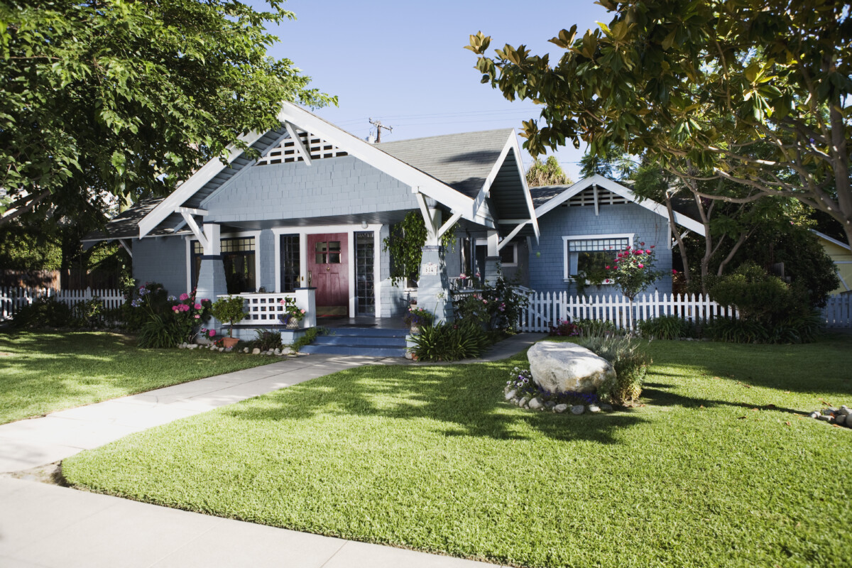
[[[573,343],[538,341],[527,351],[527,359],[533,381],[551,393],[594,393],[607,378],[615,377],[607,359]]]

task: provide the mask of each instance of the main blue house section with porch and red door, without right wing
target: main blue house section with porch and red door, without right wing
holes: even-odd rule
[[[270,327],[280,299],[308,289],[308,325],[316,316],[406,312],[412,291],[391,283],[382,242],[412,210],[429,232],[417,301],[439,319],[452,309],[454,270],[438,246],[446,231],[482,234],[489,274],[513,238],[538,238],[511,129],[375,145],[290,103],[279,121],[242,137],[259,156],[232,149],[227,164],[211,160],[170,196],[85,240],[118,240],[134,277],[172,294],[242,295],[251,309],[244,323]]]

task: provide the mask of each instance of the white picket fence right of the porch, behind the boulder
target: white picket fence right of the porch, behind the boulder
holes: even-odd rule
[[[642,294],[636,296],[632,306],[624,295],[577,296],[567,292],[527,293],[529,305],[521,315],[522,331],[550,331],[566,319],[598,319],[609,321],[619,329],[632,330],[637,322],[676,315],[700,323],[719,316],[736,317],[731,307],[720,306],[705,295]],[[852,327],[852,295],[833,295],[822,310],[828,328]]]

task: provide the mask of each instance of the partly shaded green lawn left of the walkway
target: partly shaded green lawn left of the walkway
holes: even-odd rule
[[[140,349],[112,333],[0,333],[0,424],[268,363],[237,353]]]

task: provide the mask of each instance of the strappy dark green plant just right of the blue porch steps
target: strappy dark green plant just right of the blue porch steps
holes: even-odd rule
[[[423,361],[458,361],[478,357],[491,344],[475,324],[437,324],[421,328],[412,336],[413,352]]]

